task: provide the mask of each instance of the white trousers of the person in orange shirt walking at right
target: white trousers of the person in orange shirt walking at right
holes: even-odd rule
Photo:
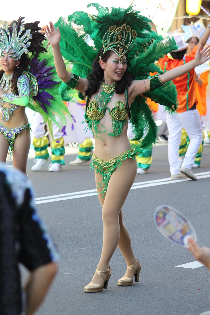
[[[180,173],[179,145],[182,128],[186,130],[190,138],[182,167],[191,169],[203,139],[201,118],[197,109],[194,109],[173,115],[167,114],[166,123],[168,127],[168,162],[171,175],[176,175]]]

